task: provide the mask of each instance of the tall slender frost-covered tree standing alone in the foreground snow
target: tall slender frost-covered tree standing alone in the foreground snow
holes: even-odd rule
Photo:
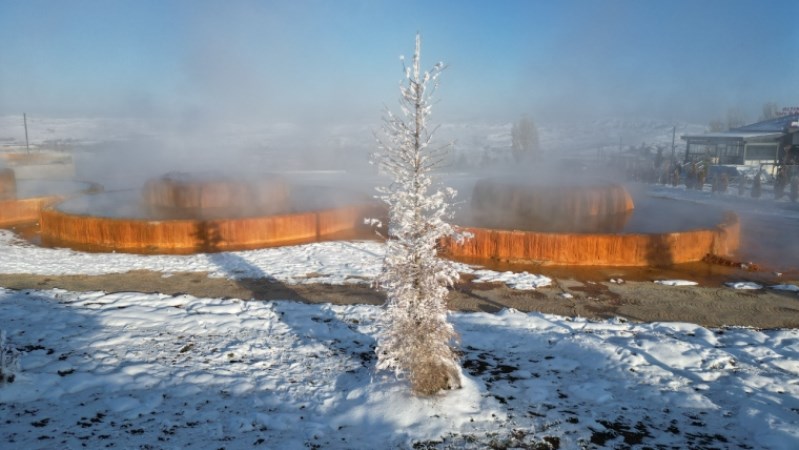
[[[378,285],[386,304],[378,336],[377,368],[407,377],[411,389],[430,395],[460,387],[460,366],[453,345],[456,333],[447,320],[448,287],[458,279],[452,263],[438,257],[441,238],[458,238],[447,223],[455,190],[433,183],[444,148],[430,145],[431,98],[444,70],[420,68],[421,38],[400,85],[401,114],[386,108],[379,151],[371,162],[391,178],[378,188],[388,205],[388,239]],[[403,63],[404,64],[404,63]]]

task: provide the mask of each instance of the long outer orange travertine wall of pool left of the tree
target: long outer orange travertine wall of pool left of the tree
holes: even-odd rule
[[[104,251],[189,253],[316,242],[355,232],[373,206],[218,220],[136,220],[76,216],[46,208],[42,242]]]

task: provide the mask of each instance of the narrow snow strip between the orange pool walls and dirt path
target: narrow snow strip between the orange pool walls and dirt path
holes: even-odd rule
[[[0,273],[38,275],[102,275],[132,270],[203,272],[238,280],[268,278],[286,284],[369,284],[382,265],[385,248],[375,241],[339,241],[241,252],[196,255],[86,253],[33,245],[0,229]],[[473,282],[502,282],[515,289],[535,289],[552,281],[527,272],[496,272],[457,264]]]

